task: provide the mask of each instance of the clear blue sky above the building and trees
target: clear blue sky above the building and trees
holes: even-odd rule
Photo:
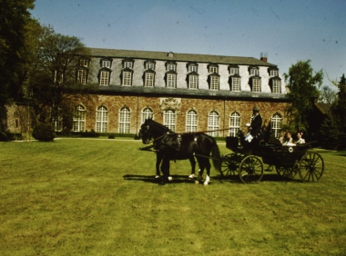
[[[288,73],[311,60],[346,73],[345,0],[36,0],[31,12],[88,47],[260,58]]]

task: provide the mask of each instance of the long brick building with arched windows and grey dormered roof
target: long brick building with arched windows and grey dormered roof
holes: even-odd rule
[[[179,133],[212,136],[245,130],[253,106],[280,133],[290,103],[286,84],[267,56],[234,57],[90,48],[76,71],[79,84],[96,84],[76,102],[72,132],[138,133],[152,117]],[[56,130],[64,128],[56,121]]]

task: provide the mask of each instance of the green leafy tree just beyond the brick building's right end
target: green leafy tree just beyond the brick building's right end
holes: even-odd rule
[[[313,72],[310,60],[299,61],[291,65],[288,74],[284,74],[288,97],[291,100],[287,108],[289,127],[295,131],[308,131],[309,116],[312,111],[311,97],[318,97],[323,80],[322,70]]]

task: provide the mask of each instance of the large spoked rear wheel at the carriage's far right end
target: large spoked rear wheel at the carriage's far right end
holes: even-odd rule
[[[319,153],[306,153],[300,160],[300,179],[302,182],[317,182],[324,171],[324,162]]]

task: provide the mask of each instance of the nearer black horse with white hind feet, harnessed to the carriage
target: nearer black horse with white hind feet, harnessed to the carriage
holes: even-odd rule
[[[140,136],[145,144],[150,143],[153,139],[154,148],[162,157],[162,184],[168,180],[170,160],[191,159],[195,156],[199,165],[197,182],[201,181],[204,169],[207,169],[205,185],[208,185],[210,180],[210,153],[212,154],[214,167],[219,170],[220,153],[218,144],[213,137],[205,133],[174,133],[168,127],[152,119],[147,119],[141,126]]]

